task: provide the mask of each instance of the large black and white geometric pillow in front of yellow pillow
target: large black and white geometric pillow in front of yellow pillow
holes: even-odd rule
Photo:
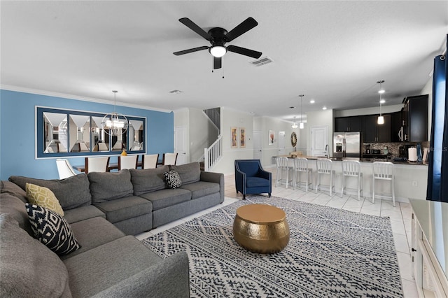
[[[81,246],[68,222],[55,211],[26,203],[29,223],[38,241],[58,255],[66,255]]]

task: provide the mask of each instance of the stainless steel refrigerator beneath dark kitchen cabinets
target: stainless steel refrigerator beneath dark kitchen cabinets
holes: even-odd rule
[[[360,132],[333,133],[333,157],[361,157],[363,135]]]

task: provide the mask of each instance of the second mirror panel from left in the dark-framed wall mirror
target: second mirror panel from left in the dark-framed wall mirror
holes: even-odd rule
[[[69,115],[70,152],[90,152],[90,116]]]

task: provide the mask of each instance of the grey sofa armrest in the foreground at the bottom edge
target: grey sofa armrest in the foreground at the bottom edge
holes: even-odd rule
[[[180,252],[167,257],[94,297],[190,297],[188,255]]]

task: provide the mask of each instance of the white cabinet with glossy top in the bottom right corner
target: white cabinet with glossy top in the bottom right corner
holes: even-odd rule
[[[448,204],[409,200],[412,260],[419,297],[448,297]]]

